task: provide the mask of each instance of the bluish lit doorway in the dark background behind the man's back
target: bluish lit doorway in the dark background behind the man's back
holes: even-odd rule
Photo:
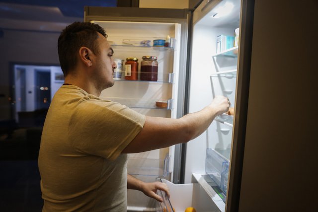
[[[13,120],[20,127],[41,127],[55,92],[64,83],[59,66],[13,66]]]

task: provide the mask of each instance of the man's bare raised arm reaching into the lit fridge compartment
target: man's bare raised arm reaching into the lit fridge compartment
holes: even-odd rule
[[[144,152],[184,143],[201,135],[217,115],[229,110],[226,97],[216,97],[201,111],[190,113],[179,119],[146,117],[144,128],[122,153]]]

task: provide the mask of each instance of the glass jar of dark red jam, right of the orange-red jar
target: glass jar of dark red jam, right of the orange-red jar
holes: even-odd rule
[[[146,81],[158,80],[158,61],[156,56],[144,56],[141,62],[140,79]]]

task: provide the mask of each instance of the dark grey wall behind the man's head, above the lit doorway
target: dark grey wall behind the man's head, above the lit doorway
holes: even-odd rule
[[[0,38],[0,120],[9,119],[10,63],[58,65],[57,39],[59,32],[3,30]]]

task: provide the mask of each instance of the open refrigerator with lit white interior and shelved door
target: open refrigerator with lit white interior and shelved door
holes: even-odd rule
[[[302,46],[296,45],[296,51],[286,43],[300,35],[297,26],[313,34],[317,22],[305,20],[315,17],[317,3],[309,1],[202,0],[193,9],[85,6],[84,21],[105,29],[114,58],[122,61],[121,76],[113,87],[102,91],[101,98],[148,116],[172,119],[201,110],[216,95],[228,97],[234,108],[234,115],[216,117],[193,141],[129,154],[128,173],[146,182],[167,183],[171,197],[158,192],[164,199],[159,204],[129,190],[128,211],[183,212],[188,207],[197,212],[317,209],[313,204],[317,186],[295,186],[299,180],[314,181],[314,176],[293,169],[297,166],[303,173],[313,167],[312,162],[302,162],[303,157],[317,161],[317,147],[307,148],[304,154],[304,146],[295,141],[305,132],[308,141],[316,138],[306,130],[313,120],[303,116],[291,120],[281,110],[293,114],[297,108],[291,104],[295,97],[288,91],[296,89],[292,83],[295,79],[289,76],[297,72],[298,64],[314,67],[313,61],[308,63],[307,51],[292,54]],[[298,8],[309,12],[291,24],[289,20],[295,18]],[[288,36],[286,32],[290,32]],[[163,44],[156,45],[158,40]],[[306,42],[302,39],[299,43]],[[283,55],[285,49],[295,60]],[[144,56],[158,58],[157,80],[141,79]],[[137,80],[125,79],[130,74],[127,58],[138,59]],[[310,84],[312,89],[301,86],[313,80],[305,77],[297,81],[300,87],[295,93],[306,90],[307,95],[313,94],[315,83]],[[162,101],[165,105],[159,106]],[[306,124],[292,125],[300,121]],[[291,129],[294,136],[286,136]],[[297,199],[302,192],[306,192],[306,199]]]

